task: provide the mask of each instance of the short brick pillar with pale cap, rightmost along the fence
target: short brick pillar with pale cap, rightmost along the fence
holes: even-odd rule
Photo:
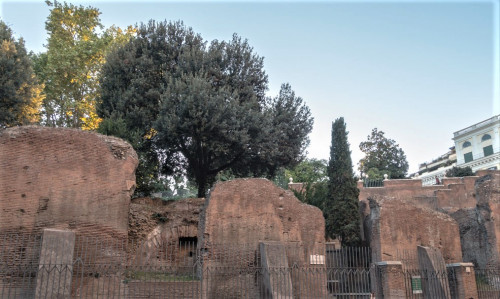
[[[456,299],[478,298],[474,264],[455,263],[446,265],[451,297]]]

